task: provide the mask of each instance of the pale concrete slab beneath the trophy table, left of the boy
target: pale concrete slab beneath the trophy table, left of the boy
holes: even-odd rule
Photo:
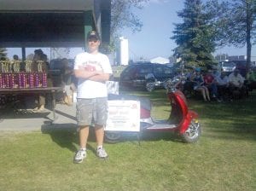
[[[76,103],[73,106],[56,104],[56,119],[52,124],[53,113],[49,109],[35,113],[31,109],[0,110],[0,131],[33,131],[45,128],[76,128]]]

